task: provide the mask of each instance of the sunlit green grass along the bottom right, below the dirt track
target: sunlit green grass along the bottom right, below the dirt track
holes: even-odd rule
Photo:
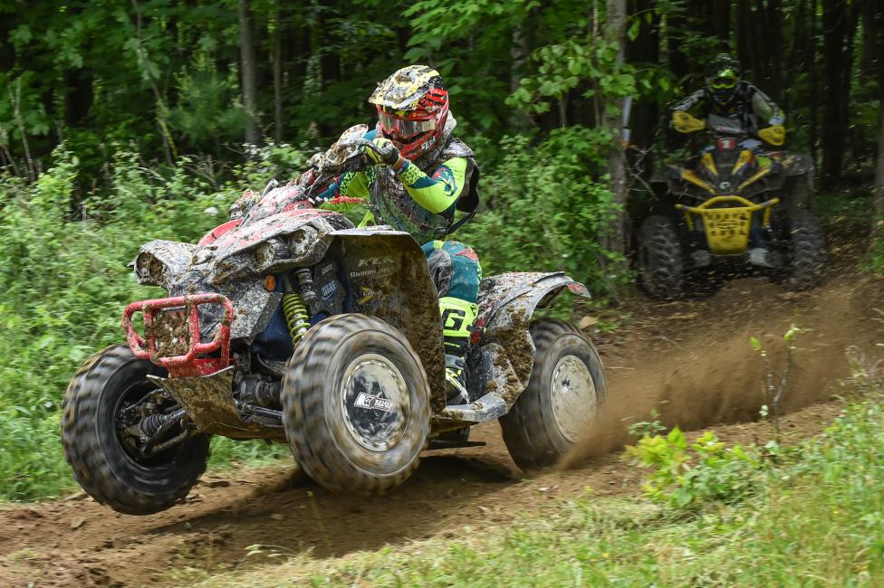
[[[820,437],[764,469],[754,494],[734,505],[683,511],[588,493],[455,539],[328,560],[255,546],[245,558],[259,564],[253,569],[173,578],[205,586],[882,585],[882,425],[879,401],[851,405]]]

